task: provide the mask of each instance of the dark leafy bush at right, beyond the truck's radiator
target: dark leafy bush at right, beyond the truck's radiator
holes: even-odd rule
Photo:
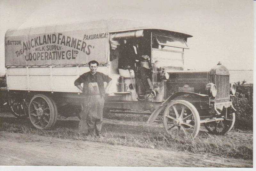
[[[253,84],[237,84],[236,96],[232,98],[236,109],[236,122],[234,128],[253,128]]]

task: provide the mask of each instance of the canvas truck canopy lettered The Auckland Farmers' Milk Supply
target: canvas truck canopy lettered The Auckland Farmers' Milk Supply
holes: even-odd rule
[[[105,65],[109,41],[111,47],[115,46],[111,41],[115,33],[130,32],[128,35],[131,36],[131,31],[135,31],[143,36],[143,29],[158,28],[142,26],[132,20],[105,19],[8,30],[5,34],[5,66],[76,66],[88,64],[91,60]]]

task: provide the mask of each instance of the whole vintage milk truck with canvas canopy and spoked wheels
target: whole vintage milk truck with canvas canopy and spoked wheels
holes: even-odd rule
[[[79,113],[84,95],[74,81],[89,71],[90,60],[97,60],[97,71],[113,80],[105,111],[149,110],[148,123],[161,113],[167,133],[177,136],[196,137],[201,123],[210,133],[225,134],[235,122],[230,98],[235,84],[229,83],[229,71],[221,64],[209,71],[183,70],[189,37],[124,19],[8,30],[6,89],[12,113],[29,116],[38,129],[52,128],[58,114]],[[142,93],[136,69],[118,68],[124,40],[137,40],[150,57],[141,62],[151,70],[150,94]]]

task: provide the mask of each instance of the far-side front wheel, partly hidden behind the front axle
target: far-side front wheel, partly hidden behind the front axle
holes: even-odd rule
[[[229,113],[224,120],[204,123],[204,127],[212,134],[224,135],[233,128],[235,119],[235,113]]]

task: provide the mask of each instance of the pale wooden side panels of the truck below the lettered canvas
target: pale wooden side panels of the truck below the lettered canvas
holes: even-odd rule
[[[90,68],[88,66],[52,67],[52,69],[51,67],[29,67],[8,68],[7,71],[8,89],[78,93],[81,91],[74,82],[79,75],[89,72]],[[108,66],[99,66],[97,71],[108,75]],[[117,91],[118,78],[112,84],[110,92]],[[106,83],[104,85],[106,86]]]

